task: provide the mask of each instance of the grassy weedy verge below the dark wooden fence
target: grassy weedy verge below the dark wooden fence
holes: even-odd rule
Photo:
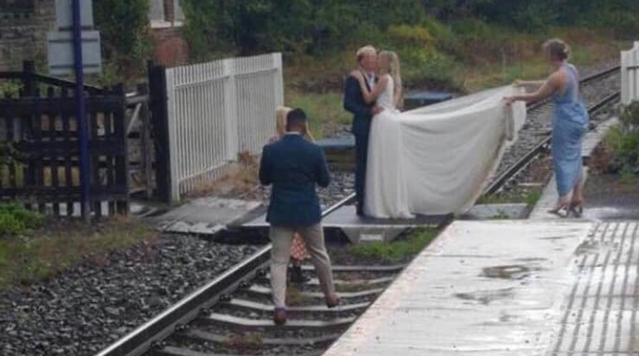
[[[17,204],[0,209],[0,219],[6,216],[11,218],[0,220],[0,289],[53,278],[81,261],[100,262],[111,251],[150,243],[157,236],[140,221],[126,217],[87,226],[44,219]]]

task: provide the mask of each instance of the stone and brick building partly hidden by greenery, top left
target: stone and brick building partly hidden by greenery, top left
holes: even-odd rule
[[[153,59],[165,66],[187,62],[179,0],[148,1]],[[26,60],[46,62],[46,36],[56,29],[55,4],[55,0],[0,0],[0,70],[19,70]]]

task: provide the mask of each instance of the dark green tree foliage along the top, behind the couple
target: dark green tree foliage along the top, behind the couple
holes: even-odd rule
[[[429,16],[445,23],[479,19],[529,32],[588,24],[632,36],[639,29],[636,0],[181,1],[188,38],[200,57],[224,46],[242,55],[275,49],[318,54],[341,48],[348,38],[371,28],[424,25]]]

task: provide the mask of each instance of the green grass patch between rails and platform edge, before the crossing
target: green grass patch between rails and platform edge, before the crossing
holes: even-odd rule
[[[437,236],[438,231],[433,228],[421,228],[411,232],[404,239],[392,243],[375,241],[352,246],[354,256],[375,258],[384,262],[408,261],[420,253]]]

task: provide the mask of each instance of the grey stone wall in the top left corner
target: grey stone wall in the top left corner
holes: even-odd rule
[[[0,70],[19,70],[22,61],[46,61],[46,36],[56,27],[55,0],[31,0],[31,5],[0,2]]]

